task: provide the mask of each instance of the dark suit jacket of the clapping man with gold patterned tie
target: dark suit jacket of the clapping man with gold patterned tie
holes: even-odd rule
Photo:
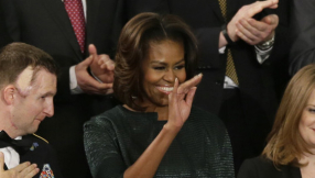
[[[252,2],[254,1],[228,0],[228,19],[230,20],[242,5]],[[200,60],[197,73],[204,75],[194,104],[218,114],[226,75],[226,54],[220,55],[218,52],[220,26],[225,23],[218,1],[155,0],[146,2],[145,0],[137,0],[131,3],[124,0],[124,3],[127,9],[123,10],[122,19],[129,20],[137,13],[153,11],[177,14],[191,25],[199,43]],[[262,16],[258,15],[257,18]],[[273,65],[280,59],[283,60],[284,54],[281,53],[284,52],[282,45],[285,38],[282,35],[284,34],[283,31],[280,32],[275,35],[271,57],[262,65],[257,62],[254,46],[242,41],[230,46],[239,79],[241,105],[246,116],[243,127],[250,137],[249,144],[254,146],[256,155],[260,154],[263,148],[264,138],[270,131],[278,108]],[[287,53],[287,48],[285,48],[285,53]]]

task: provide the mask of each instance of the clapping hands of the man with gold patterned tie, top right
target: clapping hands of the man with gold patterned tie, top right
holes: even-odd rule
[[[278,2],[279,0],[256,1],[239,9],[227,26],[230,38],[233,42],[241,38],[249,44],[258,44],[270,37],[278,25],[278,16],[268,15],[261,21],[252,16],[265,8],[276,9]]]

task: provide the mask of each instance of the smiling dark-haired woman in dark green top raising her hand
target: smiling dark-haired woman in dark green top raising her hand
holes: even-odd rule
[[[174,15],[142,13],[123,27],[116,55],[118,105],[85,124],[94,177],[233,177],[220,120],[192,108],[197,46]]]

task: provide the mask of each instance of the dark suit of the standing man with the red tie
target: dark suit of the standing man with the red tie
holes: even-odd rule
[[[116,0],[87,0],[86,44],[94,43],[99,54],[112,54]],[[55,147],[65,177],[87,177],[83,146],[83,123],[110,108],[108,97],[70,94],[69,67],[86,58],[79,51],[62,0],[0,0],[10,38],[51,54],[59,75],[55,115],[46,119],[39,133]],[[1,36],[1,35],[0,35]],[[87,51],[87,49],[86,49]]]

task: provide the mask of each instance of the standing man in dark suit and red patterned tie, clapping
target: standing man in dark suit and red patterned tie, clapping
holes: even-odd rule
[[[73,10],[72,4],[79,9]],[[90,177],[83,124],[112,105],[111,96],[105,96],[111,92],[112,81],[100,84],[89,68],[105,58],[112,76],[113,63],[98,53],[113,54],[119,33],[113,25],[116,7],[117,0],[0,0],[4,19],[0,26],[6,26],[10,38],[45,51],[61,71],[55,115],[44,121],[37,133],[56,149],[65,177]]]

